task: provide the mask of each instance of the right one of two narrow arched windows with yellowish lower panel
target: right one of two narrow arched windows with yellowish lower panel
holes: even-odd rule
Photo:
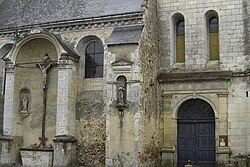
[[[219,19],[218,16],[208,18],[210,60],[219,60]]]

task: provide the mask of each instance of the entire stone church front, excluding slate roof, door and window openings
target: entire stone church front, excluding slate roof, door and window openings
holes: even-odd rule
[[[1,165],[22,163],[19,149],[29,148],[53,152],[45,166],[180,167],[188,160],[202,166],[192,157],[181,162],[181,148],[192,143],[182,143],[180,127],[206,122],[214,131],[211,166],[249,155],[250,2],[144,0],[138,10],[128,9],[0,29]],[[213,61],[211,13],[219,19],[219,60]],[[179,15],[183,63],[175,54]],[[93,41],[103,47],[103,75],[88,78],[85,58]],[[209,106],[213,119],[206,107],[202,119],[180,115],[190,100]],[[202,143],[195,137],[194,148]]]

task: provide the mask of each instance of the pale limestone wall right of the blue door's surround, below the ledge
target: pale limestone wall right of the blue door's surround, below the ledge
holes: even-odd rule
[[[248,154],[249,138],[249,77],[233,78],[229,88],[228,115],[229,115],[229,145],[233,154]]]

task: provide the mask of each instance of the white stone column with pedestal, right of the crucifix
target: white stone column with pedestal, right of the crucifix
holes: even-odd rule
[[[59,60],[54,166],[74,166],[76,159],[74,62]]]

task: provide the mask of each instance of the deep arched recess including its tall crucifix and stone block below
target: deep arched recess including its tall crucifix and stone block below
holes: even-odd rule
[[[46,39],[30,40],[17,53],[14,101],[18,103],[14,110],[18,114],[13,136],[22,137],[19,151],[23,166],[53,166],[58,80],[54,62],[56,48]]]

